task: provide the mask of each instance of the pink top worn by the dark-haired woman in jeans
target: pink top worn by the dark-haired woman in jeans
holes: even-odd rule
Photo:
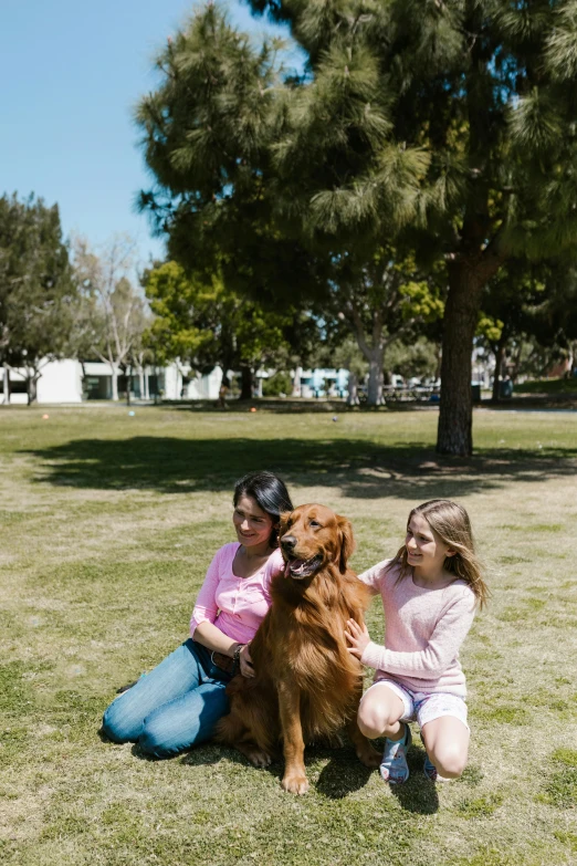
[[[271,580],[284,570],[281,551],[273,551],[255,574],[238,577],[232,571],[232,562],[239,547],[239,542],[234,541],[214,554],[192,611],[192,637],[196,627],[208,622],[233,640],[246,644],[264,619],[271,606]]]

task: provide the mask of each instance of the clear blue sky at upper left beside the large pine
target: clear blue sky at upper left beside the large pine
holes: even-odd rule
[[[138,240],[161,254],[135,194],[150,186],[132,113],[153,90],[151,59],[190,0],[0,0],[0,195],[57,202],[65,234]],[[238,0],[221,2],[256,39],[272,30]]]

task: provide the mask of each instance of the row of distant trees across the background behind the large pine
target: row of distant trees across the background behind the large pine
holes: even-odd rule
[[[9,371],[23,373],[29,401],[53,359],[98,359],[118,377],[144,378],[148,364],[172,361],[203,374],[235,372],[250,399],[255,375],[275,372],[266,393],[290,394],[302,367],[345,367],[349,403],[366,383],[369,405],[384,383],[438,379],[447,286],[443,271],[424,271],[412,255],[381,247],[361,268],[333,260],[319,296],[295,286],[290,303],[249,293],[220,261],[208,268],[174,260],[137,273],[134,242],[116,236],[99,250],[62,237],[57,206],[0,198],[0,366],[3,399]],[[514,259],[483,290],[476,346],[494,358],[494,398],[506,371],[543,375],[560,358],[577,367],[577,269],[570,257],[528,263]],[[140,392],[143,393],[143,388]]]

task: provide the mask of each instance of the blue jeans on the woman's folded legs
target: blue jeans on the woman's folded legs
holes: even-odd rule
[[[216,722],[229,712],[224,688],[231,679],[210,655],[192,638],[186,640],[111,703],[102,722],[106,737],[137,742],[155,758],[209,740]]]

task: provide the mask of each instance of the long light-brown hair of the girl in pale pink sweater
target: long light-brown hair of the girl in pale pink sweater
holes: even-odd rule
[[[465,581],[475,594],[479,606],[483,607],[491,593],[483,578],[481,562],[475,554],[471,521],[464,508],[450,499],[431,499],[412,509],[407,520],[407,528],[415,514],[423,517],[443,544],[455,551],[454,556],[445,556],[443,567],[450,574],[454,574],[455,580]],[[397,582],[411,573],[405,544],[399,547],[390,563],[390,567],[394,566],[399,567]]]

